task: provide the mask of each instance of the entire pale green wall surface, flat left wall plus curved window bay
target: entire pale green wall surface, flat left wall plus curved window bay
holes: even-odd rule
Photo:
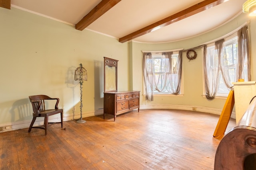
[[[174,43],[119,43],[117,39],[31,14],[16,8],[0,8],[0,127],[28,127],[32,108],[28,96],[46,94],[60,98],[65,120],[80,117],[80,88],[73,80],[74,69],[83,64],[88,81],[83,88],[83,114],[102,114],[103,57],[119,60],[118,91],[140,90],[142,50],[188,49],[218,38],[250,20],[252,80],[256,80],[256,19],[241,14],[226,25],[204,35]],[[191,28],[193,29],[193,28]],[[199,106],[222,109],[226,99],[208,101],[202,97],[202,55],[188,61],[183,57],[184,96],[159,96],[147,102],[140,96],[141,107],[149,105]],[[72,111],[73,107],[76,111]]]

